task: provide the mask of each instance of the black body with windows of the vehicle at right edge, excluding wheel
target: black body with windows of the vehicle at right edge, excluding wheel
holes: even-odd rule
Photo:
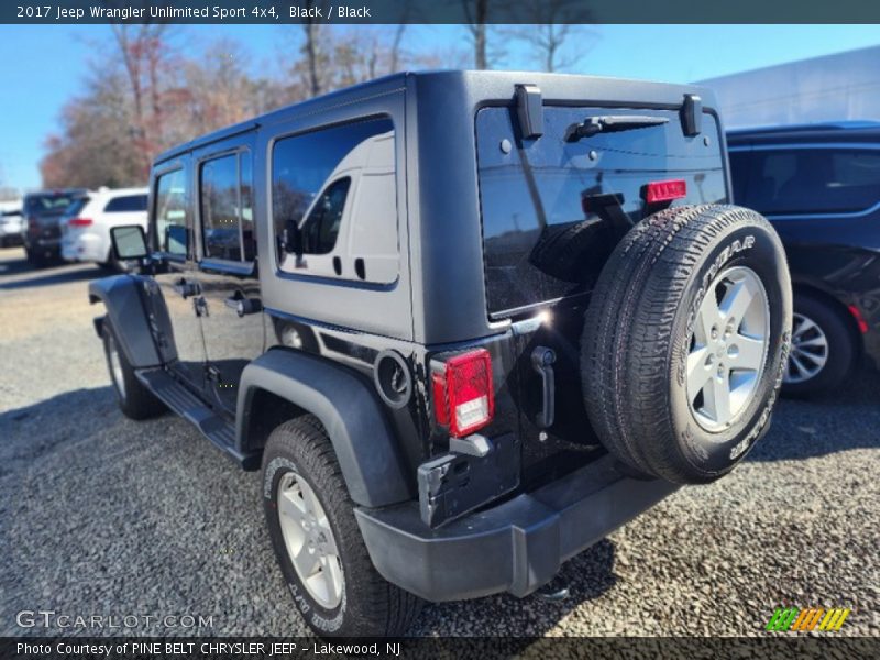
[[[880,365],[880,123],[741,129],[727,140],[735,200],[773,223],[795,293],[836,301]],[[773,188],[768,167],[790,177],[788,189]]]

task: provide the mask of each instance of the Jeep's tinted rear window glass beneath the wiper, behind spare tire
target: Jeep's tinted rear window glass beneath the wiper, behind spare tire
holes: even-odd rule
[[[666,123],[566,140],[590,117],[638,114]],[[590,290],[614,245],[657,207],[650,182],[684,179],[673,206],[726,201],[717,123],[683,134],[667,110],[544,108],[544,133],[519,143],[516,114],[485,108],[476,118],[486,299],[491,317]]]

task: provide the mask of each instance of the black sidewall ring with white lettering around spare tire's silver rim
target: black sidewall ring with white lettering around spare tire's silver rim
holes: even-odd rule
[[[756,216],[757,217],[757,216]],[[760,217],[757,217],[760,218]],[[723,231],[704,253],[701,265],[684,288],[675,314],[670,373],[670,414],[676,448],[695,472],[706,480],[732,470],[766,430],[782,383],[791,342],[791,286],[779,238],[763,219],[736,223]],[[752,270],[763,284],[770,310],[770,332],[765,366],[746,410],[734,424],[710,432],[693,417],[686,393],[686,363],[696,310],[715,277],[734,266]]]

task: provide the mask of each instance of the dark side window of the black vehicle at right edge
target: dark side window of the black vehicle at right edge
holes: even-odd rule
[[[850,213],[880,204],[880,151],[846,147],[730,154],[737,204],[767,215]]]

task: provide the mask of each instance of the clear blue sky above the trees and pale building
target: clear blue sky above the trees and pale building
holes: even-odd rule
[[[244,45],[249,68],[277,68],[292,47],[288,25],[189,25],[178,29],[182,50],[197,55],[216,37]],[[590,25],[570,55],[568,72],[668,82],[726,74],[880,44],[877,25]],[[0,186],[40,186],[38,162],[46,136],[57,131],[61,109],[75,97],[108,25],[0,25]],[[460,25],[413,25],[407,44],[442,52],[465,42]],[[509,44],[509,40],[504,40]],[[285,45],[287,44],[287,45]],[[411,45],[409,46],[411,47]],[[450,63],[452,65],[452,63]],[[501,68],[536,69],[521,44],[513,43]]]

